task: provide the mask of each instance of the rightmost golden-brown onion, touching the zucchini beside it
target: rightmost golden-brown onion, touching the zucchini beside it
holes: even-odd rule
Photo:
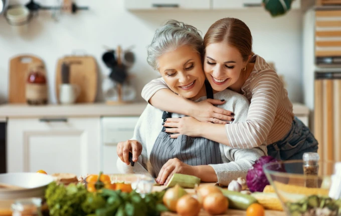
[[[229,206],[229,201],[222,193],[212,193],[204,199],[203,207],[210,214],[223,214]]]

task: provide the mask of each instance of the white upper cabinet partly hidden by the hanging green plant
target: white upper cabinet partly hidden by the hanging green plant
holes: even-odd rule
[[[262,0],[212,0],[213,10],[263,8]],[[295,0],[291,9],[299,9],[301,0]]]

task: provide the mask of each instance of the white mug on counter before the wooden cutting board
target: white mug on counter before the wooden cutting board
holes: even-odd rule
[[[59,101],[62,104],[75,103],[80,94],[80,87],[74,84],[61,84],[59,86]]]

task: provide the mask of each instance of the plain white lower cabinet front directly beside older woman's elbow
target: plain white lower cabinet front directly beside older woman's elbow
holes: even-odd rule
[[[116,168],[117,143],[126,141],[134,135],[135,125],[139,117],[104,117],[102,118],[103,156],[102,170],[104,173],[118,173]]]

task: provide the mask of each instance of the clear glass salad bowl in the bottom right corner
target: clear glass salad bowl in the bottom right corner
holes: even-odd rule
[[[272,162],[263,170],[287,215],[341,215],[341,199],[329,197],[335,164],[319,162],[317,175],[304,174],[303,160]],[[278,167],[285,172],[273,171]]]

